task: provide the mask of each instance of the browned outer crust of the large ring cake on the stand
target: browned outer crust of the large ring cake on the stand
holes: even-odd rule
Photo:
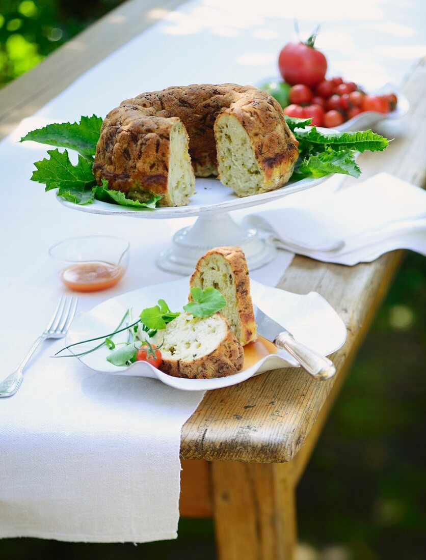
[[[214,125],[223,111],[248,133],[266,183],[273,176],[266,190],[285,183],[299,154],[281,106],[257,87],[233,83],[168,87],[123,101],[102,125],[93,166],[96,181],[108,180],[110,189],[128,198],[160,194],[165,197],[160,204],[169,206],[169,136],[175,120],[187,130],[195,174],[217,175]]]

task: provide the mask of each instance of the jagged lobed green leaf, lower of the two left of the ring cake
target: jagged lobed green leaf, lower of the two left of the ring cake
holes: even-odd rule
[[[47,153],[49,158],[35,162],[36,171],[31,180],[44,183],[47,191],[59,189],[61,197],[76,204],[92,202],[92,188],[96,184],[92,164],[79,155],[77,165],[72,165],[67,150],[48,150]]]

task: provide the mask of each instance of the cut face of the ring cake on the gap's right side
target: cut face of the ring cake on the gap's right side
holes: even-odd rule
[[[263,178],[246,130],[234,116],[223,114],[217,118],[215,136],[221,182],[239,197],[258,193]]]

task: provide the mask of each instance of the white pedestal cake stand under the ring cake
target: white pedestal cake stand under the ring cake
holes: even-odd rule
[[[246,254],[249,268],[253,270],[271,262],[276,249],[261,240],[255,229],[237,224],[229,212],[311,189],[329,177],[327,175],[320,179],[303,179],[293,183],[290,181],[280,189],[245,198],[237,197],[233,190],[226,188],[218,179],[197,178],[196,194],[191,197],[187,206],[156,208],[152,211],[133,210],[100,200],[86,206],[79,206],[59,197],[58,200],[74,210],[108,216],[129,216],[145,220],[198,216],[192,226],[182,228],[173,236],[168,249],[157,255],[156,264],[159,268],[178,274],[192,274],[197,260],[207,250],[220,245],[239,245]]]

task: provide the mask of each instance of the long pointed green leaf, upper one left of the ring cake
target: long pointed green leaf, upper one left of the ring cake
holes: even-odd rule
[[[95,155],[101,126],[100,116],[82,116],[79,123],[54,123],[31,130],[20,142],[32,140],[59,148],[70,148],[84,157],[91,157]]]

